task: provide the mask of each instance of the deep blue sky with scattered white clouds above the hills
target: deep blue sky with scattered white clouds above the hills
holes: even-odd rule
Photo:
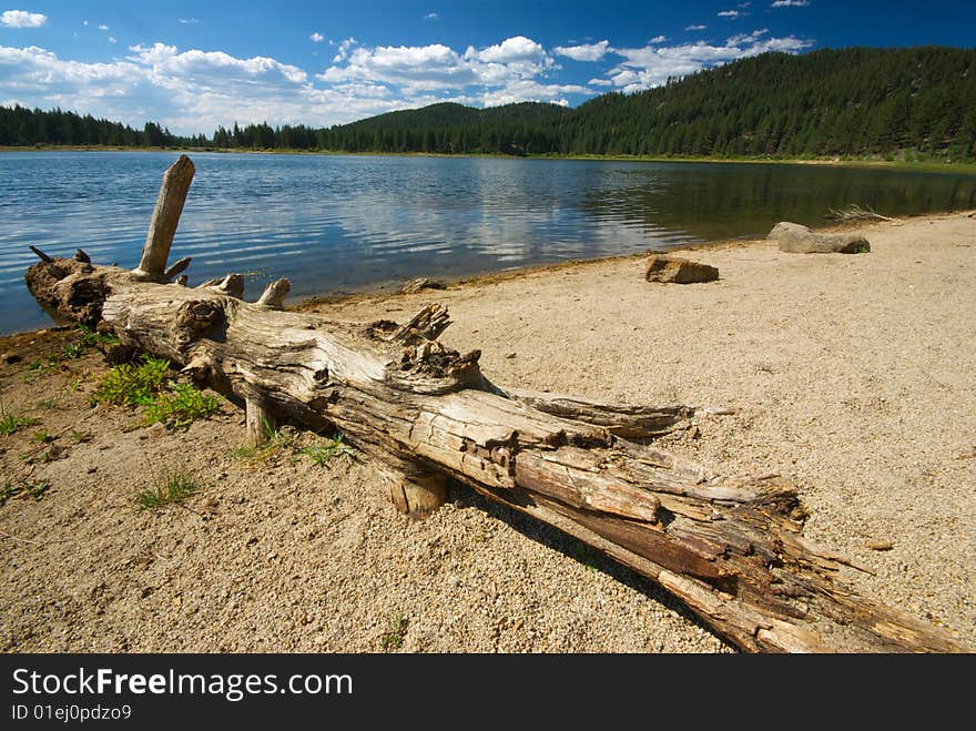
[[[576,106],[767,50],[973,47],[966,2],[0,0],[0,104],[181,134],[438,101]]]

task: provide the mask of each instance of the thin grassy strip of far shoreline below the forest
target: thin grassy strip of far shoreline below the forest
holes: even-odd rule
[[[4,152],[172,152],[193,154],[200,152],[220,154],[281,154],[281,155],[340,155],[375,158],[491,158],[501,160],[591,160],[597,162],[636,163],[744,163],[777,165],[831,165],[837,167],[874,167],[909,172],[964,173],[976,175],[976,162],[906,162],[884,159],[841,159],[841,158],[664,158],[643,155],[501,155],[501,154],[446,154],[430,152],[347,152],[340,150],[241,150],[227,148],[126,148],[116,145],[35,145],[0,146]]]

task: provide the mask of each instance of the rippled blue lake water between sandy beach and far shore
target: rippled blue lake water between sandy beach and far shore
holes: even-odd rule
[[[170,261],[190,283],[241,272],[312,294],[763,236],[856,203],[976,207],[976,175],[814,165],[194,153]],[[0,332],[50,324],[23,284],[33,244],[139,263],[176,153],[0,153]]]

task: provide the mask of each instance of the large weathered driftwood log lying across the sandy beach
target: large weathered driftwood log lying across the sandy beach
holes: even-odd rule
[[[176,166],[187,170],[183,159]],[[167,173],[161,216],[160,206],[175,210],[171,185],[185,195],[189,182]],[[500,388],[479,352],[437,341],[450,323],[439,305],[403,325],[364,325],[281,309],[284,281],[256,303],[241,298],[238,275],[166,284],[175,225],[153,231],[136,272],[39,254],[28,287],[61,316],[111,329],[244,405],[252,440],[265,420],[339,429],[415,516],[459,480],[655,581],[743,650],[962,650],[843,586],[843,559],[803,538],[787,481],[722,478],[629,440],[675,428],[691,409]]]

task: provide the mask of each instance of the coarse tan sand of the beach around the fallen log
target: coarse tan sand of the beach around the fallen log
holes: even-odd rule
[[[316,309],[403,321],[444,302],[441,339],[480,348],[501,385],[733,410],[662,446],[794,480],[805,535],[873,571],[843,580],[976,649],[976,220],[862,231],[870,254],[688,252],[718,266],[709,284],[651,284],[624,257]],[[461,486],[410,522],[355,457],[235,456],[230,404],[179,432],[92,409],[96,353],[28,368],[71,337],[0,342],[23,357],[0,364],[3,408],[39,419],[0,437],[2,479],[51,485],[0,507],[3,651],[731,650],[667,593]],[[140,510],[134,493],[173,466],[200,491]]]

